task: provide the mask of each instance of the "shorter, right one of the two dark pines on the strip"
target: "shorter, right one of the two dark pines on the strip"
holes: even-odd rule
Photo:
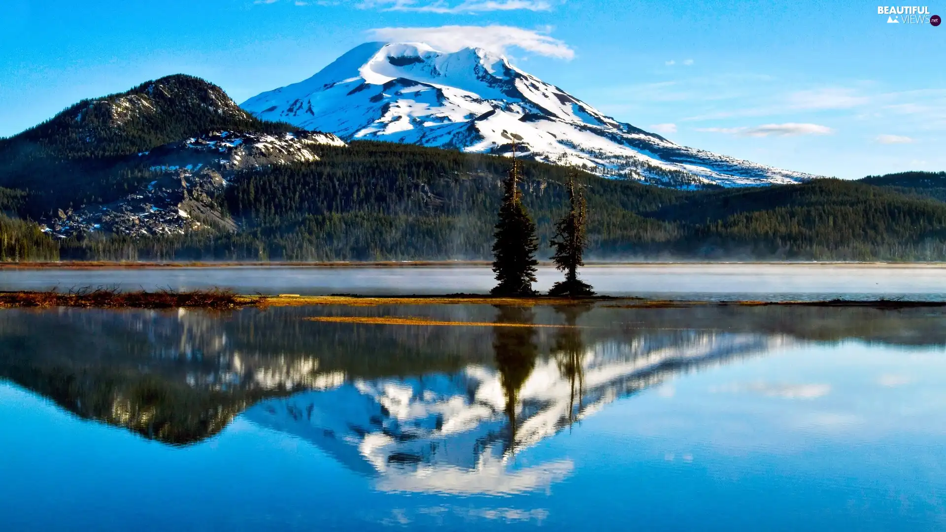
[[[587,245],[587,203],[581,189],[575,189],[573,171],[569,171],[567,190],[569,212],[555,224],[555,236],[552,237],[552,247],[555,249],[552,261],[555,262],[555,269],[565,272],[565,280],[555,283],[549,294],[594,295],[591,285],[578,279],[578,267],[585,265],[582,256]]]

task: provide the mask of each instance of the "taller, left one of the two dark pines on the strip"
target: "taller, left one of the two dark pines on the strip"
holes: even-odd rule
[[[493,244],[493,272],[499,284],[491,291],[494,295],[534,295],[535,223],[529,217],[522,195],[518,190],[521,169],[513,148],[513,168],[503,183],[502,204],[499,205],[499,222],[496,223]]]

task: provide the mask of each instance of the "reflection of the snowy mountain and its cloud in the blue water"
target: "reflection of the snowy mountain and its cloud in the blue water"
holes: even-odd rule
[[[531,323],[507,307],[499,323]],[[568,322],[574,325],[574,316]],[[493,330],[493,364],[454,372],[355,378],[323,391],[268,399],[247,410],[254,423],[299,436],[345,467],[379,477],[377,488],[513,493],[543,488],[572,470],[568,459],[517,467],[511,458],[614,399],[674,373],[762,352],[780,336],[690,332],[604,338],[559,328],[539,356],[535,328]]]

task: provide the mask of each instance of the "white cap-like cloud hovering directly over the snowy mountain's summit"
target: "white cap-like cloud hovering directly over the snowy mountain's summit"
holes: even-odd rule
[[[378,27],[369,34],[380,41],[427,43],[445,52],[467,46],[485,48],[500,54],[512,46],[538,55],[570,60],[575,52],[568,44],[535,31],[512,26],[441,26],[441,27]]]

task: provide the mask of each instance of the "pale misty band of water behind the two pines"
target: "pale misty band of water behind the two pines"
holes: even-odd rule
[[[671,299],[946,300],[946,266],[856,264],[653,264],[588,266],[582,276],[599,293]],[[547,291],[561,274],[539,269]],[[0,270],[0,290],[81,287],[229,288],[240,293],[486,293],[489,267],[224,267],[149,270]]]

